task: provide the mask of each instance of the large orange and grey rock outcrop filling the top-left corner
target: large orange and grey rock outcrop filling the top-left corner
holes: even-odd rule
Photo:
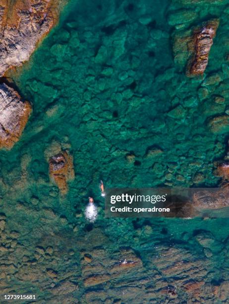
[[[37,43],[54,26],[59,2],[0,1],[0,76],[29,59]]]

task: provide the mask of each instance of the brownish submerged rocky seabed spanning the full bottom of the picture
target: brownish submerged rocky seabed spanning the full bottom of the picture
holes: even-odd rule
[[[27,215],[31,211],[23,205],[16,210]],[[212,271],[227,261],[229,240],[217,239],[210,231],[187,230],[182,242],[170,242],[170,234],[164,231],[163,244],[157,237],[162,223],[155,222],[152,229],[142,222],[138,229],[131,226],[135,230],[132,246],[140,246],[139,252],[129,247],[128,240],[125,246],[118,240],[114,243],[117,236],[110,239],[98,226],[80,231],[50,209],[37,210],[32,218],[40,221],[33,230],[39,242],[26,246],[30,240],[24,234],[26,228],[13,230],[10,219],[0,214],[0,288],[4,293],[26,293],[30,286],[40,303],[51,304],[210,304],[229,297],[228,275],[214,282],[218,272]],[[50,230],[51,226],[55,228]],[[212,258],[215,254],[217,260]]]

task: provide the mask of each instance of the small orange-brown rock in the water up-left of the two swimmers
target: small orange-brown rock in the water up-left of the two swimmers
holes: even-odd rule
[[[68,190],[67,181],[74,178],[72,157],[66,151],[54,155],[49,160],[49,172],[60,192],[65,194]]]

